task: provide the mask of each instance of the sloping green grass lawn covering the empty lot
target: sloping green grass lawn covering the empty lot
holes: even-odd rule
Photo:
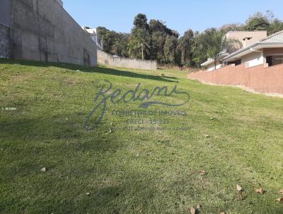
[[[158,127],[190,129],[119,130],[128,118],[111,111],[137,110],[130,102],[108,103],[98,129],[84,130],[103,79],[123,91],[178,84],[190,103],[173,110],[187,116]],[[200,213],[283,213],[282,98],[173,70],[0,60],[0,99],[0,213],[189,213],[199,203]]]

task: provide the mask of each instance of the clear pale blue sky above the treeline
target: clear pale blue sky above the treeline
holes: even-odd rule
[[[81,25],[103,26],[121,33],[129,33],[137,13],[166,22],[168,28],[202,32],[219,28],[226,23],[244,23],[253,13],[269,10],[283,20],[282,0],[63,0],[64,9]]]

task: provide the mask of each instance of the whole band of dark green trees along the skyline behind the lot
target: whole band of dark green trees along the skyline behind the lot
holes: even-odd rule
[[[231,30],[267,30],[271,35],[283,30],[283,22],[274,13],[255,13],[246,23],[229,23],[221,28],[209,28],[200,33],[191,29],[180,36],[164,21],[151,19],[139,13],[134,17],[131,33],[117,33],[104,27],[97,32],[103,39],[105,52],[122,57],[157,60],[159,64],[180,67],[200,67],[209,57],[215,59],[223,50],[233,52],[241,48],[235,40],[224,35]]]

